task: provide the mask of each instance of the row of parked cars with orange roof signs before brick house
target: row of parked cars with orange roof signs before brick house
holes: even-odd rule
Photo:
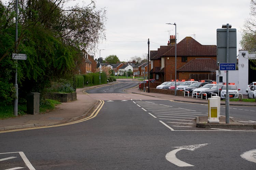
[[[226,98],[226,84],[216,84],[211,80],[198,81],[183,81],[176,82],[176,90],[185,90],[187,95],[193,95],[194,97],[210,98],[212,95],[219,96],[221,99]],[[164,82],[156,87],[157,89],[175,89],[175,82]],[[256,91],[256,82],[255,82]],[[237,86],[234,83],[228,85],[229,98],[238,98],[239,92]],[[254,94],[256,96],[256,94]]]

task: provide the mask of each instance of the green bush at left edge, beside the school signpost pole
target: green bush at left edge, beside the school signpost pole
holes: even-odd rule
[[[16,97],[15,88],[12,83],[4,82],[0,79],[0,105],[6,106],[13,104]]]

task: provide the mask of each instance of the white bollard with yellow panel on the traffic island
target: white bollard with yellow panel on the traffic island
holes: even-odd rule
[[[219,102],[217,98],[208,99],[208,122],[209,123],[219,123]]]

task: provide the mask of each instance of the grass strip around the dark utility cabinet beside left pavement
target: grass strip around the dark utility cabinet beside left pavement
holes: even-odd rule
[[[49,112],[55,109],[55,105],[61,104],[58,101],[46,99],[44,102],[40,102],[40,113]],[[13,112],[14,106],[0,106],[0,119],[8,119],[14,116]],[[27,105],[18,105],[18,116],[26,115],[27,113]]]

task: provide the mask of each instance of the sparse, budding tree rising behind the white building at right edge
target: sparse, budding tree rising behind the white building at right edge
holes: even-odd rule
[[[251,0],[250,17],[244,22],[242,40],[240,44],[243,49],[249,52],[256,51],[256,0]]]

